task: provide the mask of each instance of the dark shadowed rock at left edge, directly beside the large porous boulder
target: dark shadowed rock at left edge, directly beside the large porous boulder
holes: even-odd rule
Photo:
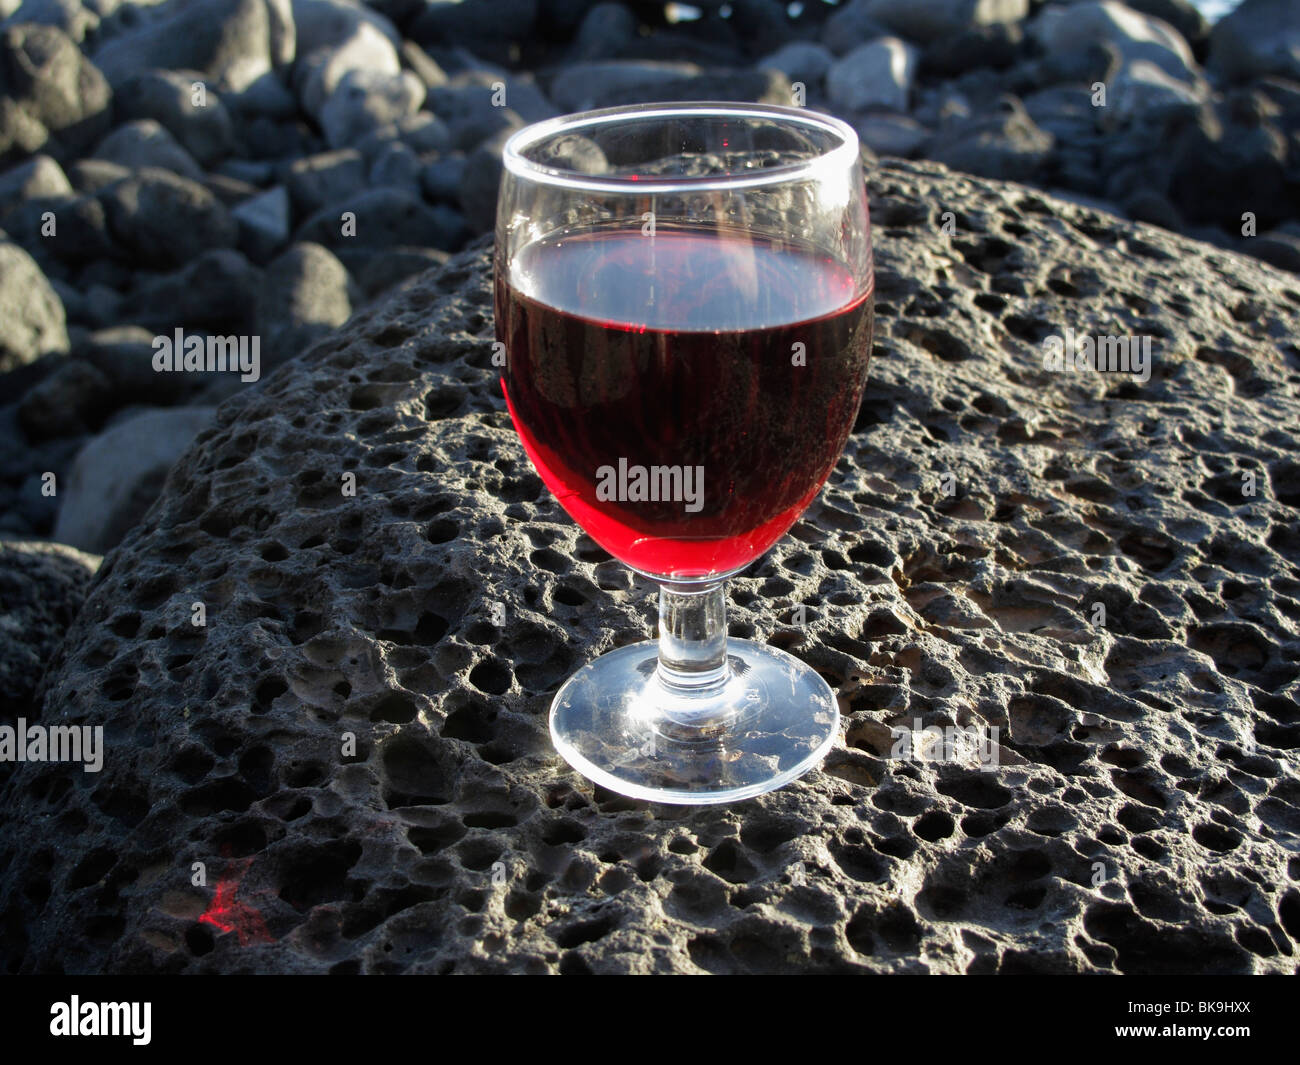
[[[99,563],[64,544],[0,540],[0,720],[35,719],[40,677]]]

